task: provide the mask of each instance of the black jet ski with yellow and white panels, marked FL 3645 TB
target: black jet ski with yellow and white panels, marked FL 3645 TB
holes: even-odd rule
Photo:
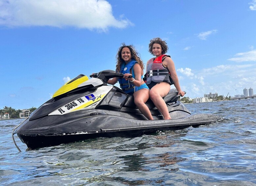
[[[90,79],[78,75],[20,123],[13,135],[17,134],[28,148],[36,149],[97,137],[138,137],[221,119],[213,114],[191,115],[180,102],[181,95],[171,89],[163,99],[172,119],[163,120],[154,103],[148,100],[146,105],[154,118],[148,120],[135,106],[132,95],[107,85],[110,78],[123,75],[113,70],[93,73]]]

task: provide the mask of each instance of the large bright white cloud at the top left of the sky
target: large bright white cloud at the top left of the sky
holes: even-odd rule
[[[98,29],[125,28],[132,23],[112,14],[105,0],[6,0],[0,2],[0,25]]]

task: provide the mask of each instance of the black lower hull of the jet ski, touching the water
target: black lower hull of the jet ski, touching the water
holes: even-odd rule
[[[190,115],[173,120],[135,120],[120,116],[96,115],[75,121],[56,121],[54,127],[49,126],[47,130],[44,126],[43,132],[41,127],[33,128],[33,130],[25,130],[21,127],[22,134],[19,130],[16,133],[23,143],[35,149],[98,137],[139,137],[159,130],[178,130],[189,126],[209,124],[219,119],[219,116],[209,114]],[[40,125],[44,120],[46,119],[34,122]],[[54,117],[52,120],[55,120]],[[27,122],[33,122],[33,120]],[[26,121],[23,126],[26,126]]]

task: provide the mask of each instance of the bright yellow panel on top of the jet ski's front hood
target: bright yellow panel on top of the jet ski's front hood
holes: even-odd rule
[[[82,74],[81,74],[82,75]],[[81,76],[79,75],[79,76]],[[81,83],[87,81],[89,78],[86,75],[83,75],[79,78],[77,76],[74,79],[71,79],[69,82],[65,83],[59,90],[57,90],[52,97],[59,96],[61,94],[67,93],[69,91],[72,91],[78,87]]]

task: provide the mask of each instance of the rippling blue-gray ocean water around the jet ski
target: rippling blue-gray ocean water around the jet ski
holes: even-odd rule
[[[26,151],[0,120],[0,185],[256,185],[256,99],[185,105],[223,120]]]

